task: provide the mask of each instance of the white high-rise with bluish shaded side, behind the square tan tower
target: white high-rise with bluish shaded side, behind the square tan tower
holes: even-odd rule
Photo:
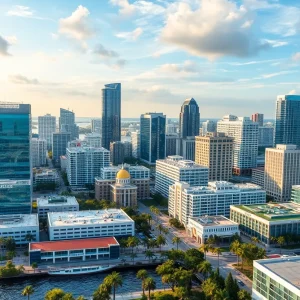
[[[250,175],[257,166],[258,124],[249,117],[224,116],[218,122],[218,132],[233,137],[233,173]]]

